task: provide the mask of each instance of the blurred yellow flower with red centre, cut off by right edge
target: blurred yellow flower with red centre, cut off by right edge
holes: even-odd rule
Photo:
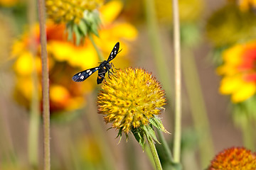
[[[220,93],[231,95],[233,103],[247,100],[256,92],[256,41],[234,45],[223,52],[218,74],[223,76]]]

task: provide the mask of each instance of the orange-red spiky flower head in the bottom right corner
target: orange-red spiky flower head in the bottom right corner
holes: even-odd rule
[[[225,149],[215,156],[208,170],[255,170],[256,154],[244,147]]]

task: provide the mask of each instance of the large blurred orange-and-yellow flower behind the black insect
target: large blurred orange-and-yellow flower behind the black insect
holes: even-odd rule
[[[100,30],[100,38],[93,37],[97,46],[102,50],[107,58],[110,55],[112,46],[119,41],[122,48],[122,55],[119,55],[119,68],[127,67],[129,64],[124,59],[124,55],[129,51],[127,41],[135,40],[137,30],[127,22],[119,23],[116,21],[119,13],[110,13],[109,8],[121,6],[120,1],[114,1],[102,6],[102,18],[106,18],[102,30]],[[105,13],[105,12],[107,13]],[[120,12],[120,11],[119,11]],[[107,18],[112,18],[107,20]],[[50,111],[72,111],[82,107],[84,103],[83,95],[90,93],[96,86],[96,78],[94,75],[87,79],[86,83],[73,82],[71,77],[75,72],[82,69],[98,66],[98,62],[102,62],[97,57],[97,52],[90,40],[85,39],[83,45],[75,46],[73,42],[67,40],[64,24],[54,24],[52,21],[47,22],[47,47],[48,47],[48,67],[50,74]],[[121,30],[123,34],[120,32]],[[29,38],[28,33],[24,33],[20,40],[16,40],[13,45],[13,56],[17,57],[14,63],[14,70],[17,75],[15,96],[16,99],[25,106],[29,106],[32,95],[31,74],[33,72],[33,64],[36,66],[38,77],[41,74],[40,60],[40,42],[39,42],[39,26],[34,27],[35,42]],[[119,31],[117,31],[119,30]],[[29,47],[31,44],[36,46],[36,58],[33,61]],[[76,69],[76,70],[75,70]],[[96,76],[96,75],[95,75]],[[38,94],[41,96],[41,86],[37,87]]]

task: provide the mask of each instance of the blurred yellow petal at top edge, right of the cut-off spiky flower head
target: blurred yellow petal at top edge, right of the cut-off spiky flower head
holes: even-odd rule
[[[121,1],[118,0],[110,1],[107,4],[105,4],[105,6],[102,6],[102,8],[100,9],[102,13],[102,23],[112,23],[112,21],[114,21],[114,19],[117,18],[122,8],[123,4]]]

